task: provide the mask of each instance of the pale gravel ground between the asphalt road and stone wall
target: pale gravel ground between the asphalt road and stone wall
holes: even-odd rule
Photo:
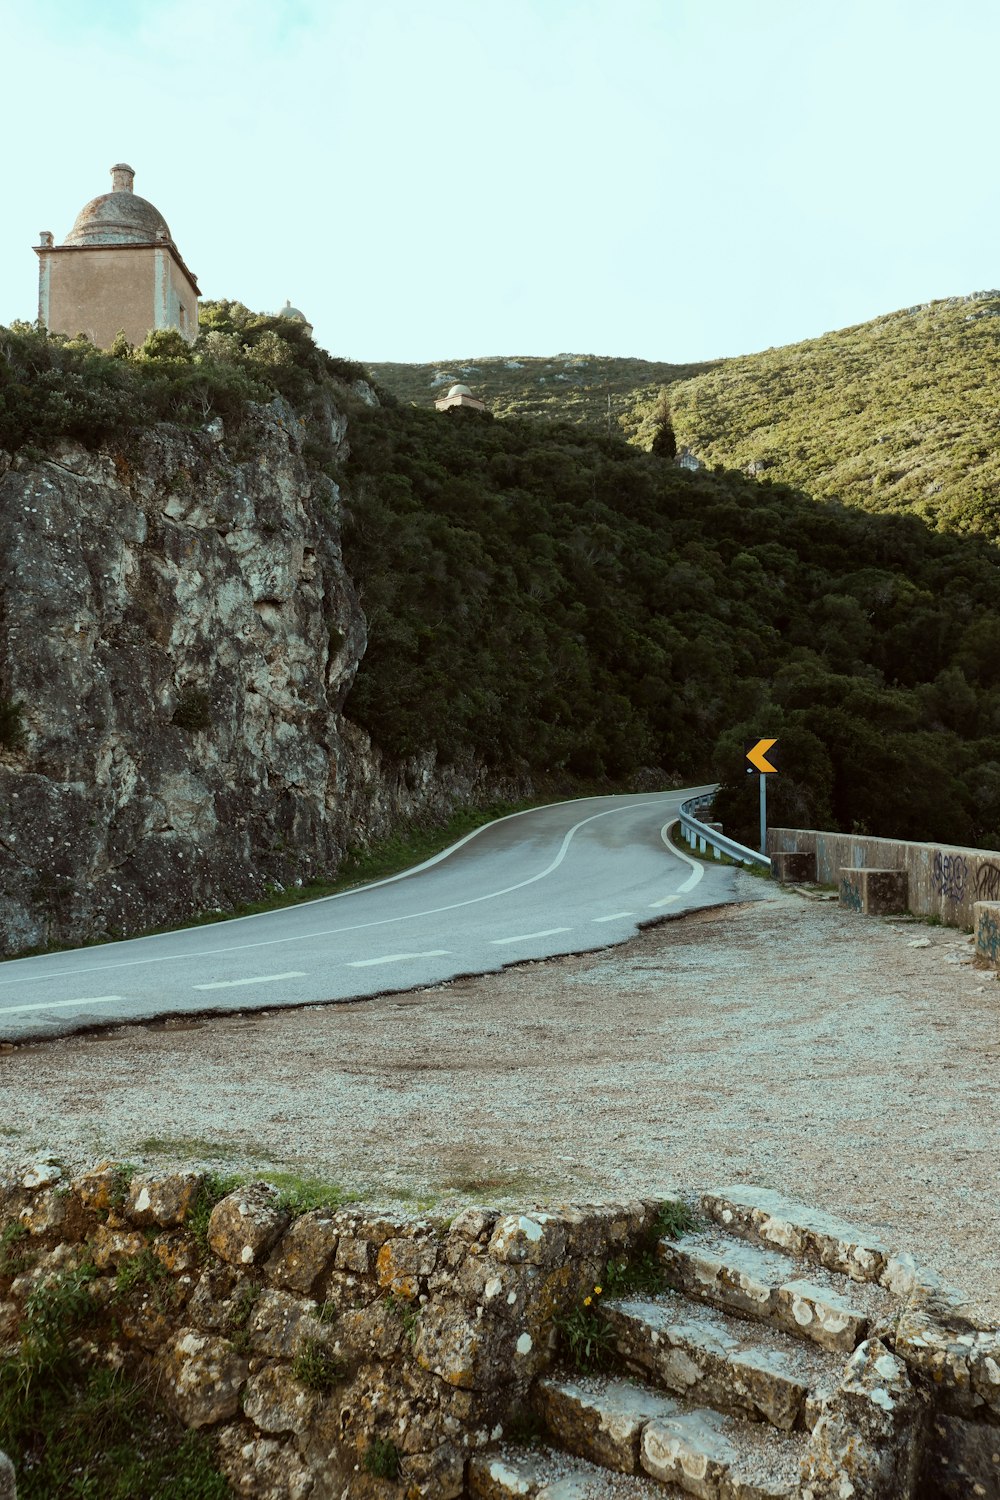
[[[441,1214],[754,1182],[1000,1318],[1000,986],[954,928],[739,886],[600,954],[7,1052],[0,1162],[282,1168]]]

